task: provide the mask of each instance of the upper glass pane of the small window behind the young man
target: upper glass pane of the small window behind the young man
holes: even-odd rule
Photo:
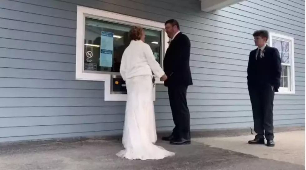
[[[290,63],[290,51],[289,51],[289,42],[281,40],[272,40],[272,46],[279,50],[279,55],[282,60],[282,63]]]

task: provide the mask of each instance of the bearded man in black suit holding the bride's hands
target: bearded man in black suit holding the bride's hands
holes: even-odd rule
[[[164,58],[164,71],[168,77],[165,86],[168,87],[175,128],[170,136],[163,137],[162,140],[176,145],[190,144],[190,113],[186,100],[187,88],[192,85],[190,40],[180,32],[179,23],[174,19],[165,22],[165,30],[171,38]]]

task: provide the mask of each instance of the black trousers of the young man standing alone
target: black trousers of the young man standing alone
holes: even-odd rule
[[[274,90],[269,83],[249,84],[249,95],[252,104],[255,138],[274,139],[273,101]]]

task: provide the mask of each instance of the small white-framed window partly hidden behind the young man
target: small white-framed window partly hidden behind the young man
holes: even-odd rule
[[[269,44],[279,51],[282,62],[279,94],[295,94],[294,38],[270,32]]]

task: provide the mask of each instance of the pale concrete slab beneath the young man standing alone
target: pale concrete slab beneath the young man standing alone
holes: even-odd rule
[[[274,159],[305,166],[305,131],[290,131],[275,134],[275,147],[265,145],[248,145],[251,136],[196,138],[194,141],[211,147],[251,154],[259,158]]]

